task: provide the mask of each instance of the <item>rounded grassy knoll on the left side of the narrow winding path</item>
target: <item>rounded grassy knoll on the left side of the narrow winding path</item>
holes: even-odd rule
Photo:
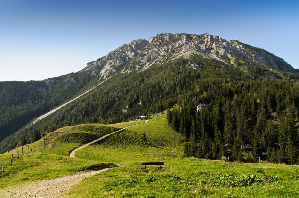
[[[81,124],[77,126],[66,126],[52,133],[48,133],[44,138],[29,144],[29,152],[31,148],[34,151],[68,156],[69,153],[106,134],[117,131],[121,128],[103,124]],[[45,140],[44,140],[45,139]],[[45,146],[44,146],[45,145]],[[28,147],[23,146],[27,153]],[[12,152],[22,151],[22,147],[14,149]]]

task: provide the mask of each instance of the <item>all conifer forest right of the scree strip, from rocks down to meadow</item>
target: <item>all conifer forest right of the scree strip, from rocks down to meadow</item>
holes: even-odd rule
[[[0,151],[56,128],[82,123],[121,122],[168,109],[167,121],[181,133],[186,156],[275,163],[298,162],[298,74],[281,72],[272,80],[259,66],[246,72],[210,60],[153,65],[141,72],[117,74],[45,119],[6,139]],[[181,108],[172,106],[178,104]],[[196,111],[198,104],[206,104]],[[38,133],[37,133],[38,134]]]

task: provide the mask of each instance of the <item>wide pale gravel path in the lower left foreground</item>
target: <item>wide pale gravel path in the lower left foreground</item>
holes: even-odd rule
[[[1,198],[17,197],[17,198],[60,198],[62,194],[71,189],[73,185],[78,184],[82,179],[94,176],[109,168],[83,172],[80,174],[59,177],[51,180],[41,180],[38,183],[27,184],[16,188],[7,187],[0,190]]]

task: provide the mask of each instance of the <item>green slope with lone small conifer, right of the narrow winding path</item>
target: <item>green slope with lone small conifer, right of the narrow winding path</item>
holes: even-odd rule
[[[144,132],[146,144],[141,140]],[[181,135],[167,125],[166,114],[163,114],[148,123],[132,126],[86,146],[78,150],[75,157],[116,164],[167,156],[179,157],[183,151],[180,139]]]

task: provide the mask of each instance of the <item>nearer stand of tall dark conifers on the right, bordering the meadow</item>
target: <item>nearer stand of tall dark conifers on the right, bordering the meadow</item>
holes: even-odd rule
[[[297,85],[251,81],[232,97],[182,103],[167,110],[167,122],[184,136],[186,157],[298,164]],[[207,104],[197,111],[197,104]]]

